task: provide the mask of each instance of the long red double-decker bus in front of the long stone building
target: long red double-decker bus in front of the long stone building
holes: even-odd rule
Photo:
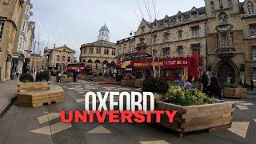
[[[154,66],[157,75],[168,81],[177,80],[180,76],[192,76],[199,78],[198,53],[194,52],[186,58],[154,58]],[[146,78],[153,73],[153,60],[150,54],[135,52],[118,56],[117,81],[133,75],[135,78]]]

